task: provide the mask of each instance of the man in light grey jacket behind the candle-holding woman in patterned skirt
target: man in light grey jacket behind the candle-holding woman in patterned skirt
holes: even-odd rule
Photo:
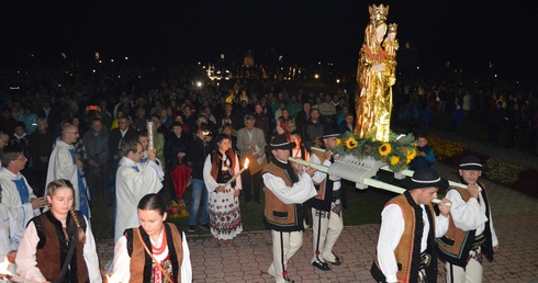
[[[245,194],[245,202],[249,202],[253,199],[254,190],[254,201],[261,203],[261,168],[257,165],[264,162],[259,160],[265,158],[266,136],[264,131],[254,126],[256,121],[253,115],[246,115],[244,122],[245,127],[237,131],[237,148],[240,152],[240,163],[244,165],[245,159],[249,159],[248,169],[242,173],[243,193]]]

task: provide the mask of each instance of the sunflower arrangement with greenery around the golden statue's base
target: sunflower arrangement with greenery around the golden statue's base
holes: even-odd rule
[[[390,134],[390,142],[358,138],[350,132],[336,139],[333,152],[341,156],[355,155],[357,158],[370,157],[389,166],[394,172],[407,169],[407,165],[416,156],[415,137],[412,134]]]

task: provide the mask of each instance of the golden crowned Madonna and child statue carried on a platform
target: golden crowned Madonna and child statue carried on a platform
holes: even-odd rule
[[[370,23],[365,30],[365,43],[360,48],[357,68],[355,135],[359,138],[389,142],[392,86],[396,81],[397,25],[386,26],[389,5],[373,4],[369,7],[369,12]]]

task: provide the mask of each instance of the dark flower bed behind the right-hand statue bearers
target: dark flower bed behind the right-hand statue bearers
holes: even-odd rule
[[[505,184],[517,191],[538,196],[538,170],[507,165],[497,158],[479,154],[466,148],[461,143],[442,139],[438,136],[428,136],[428,144],[434,148],[436,159],[457,167],[466,156],[477,156],[487,168],[483,177]]]

